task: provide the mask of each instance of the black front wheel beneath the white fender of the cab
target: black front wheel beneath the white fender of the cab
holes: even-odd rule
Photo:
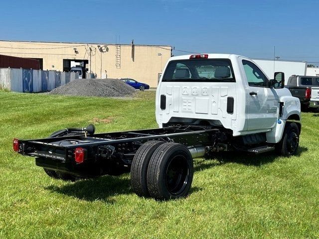
[[[299,147],[299,128],[294,122],[287,122],[282,140],[276,144],[276,152],[282,156],[295,155]]]

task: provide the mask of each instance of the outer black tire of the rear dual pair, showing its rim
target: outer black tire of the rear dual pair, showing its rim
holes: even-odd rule
[[[155,199],[186,197],[194,174],[193,159],[183,144],[163,143],[153,153],[147,172],[147,186]]]

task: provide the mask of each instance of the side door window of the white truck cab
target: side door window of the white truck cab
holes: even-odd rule
[[[268,86],[268,79],[258,66],[250,61],[243,60],[242,62],[249,86]]]

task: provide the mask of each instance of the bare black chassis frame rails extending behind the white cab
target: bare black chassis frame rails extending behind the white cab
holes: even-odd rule
[[[174,125],[164,128],[88,134],[68,130],[65,136],[19,140],[18,152],[36,157],[36,165],[78,177],[121,174],[130,169],[138,148],[149,140],[185,145],[193,158],[207,150],[223,150],[219,141],[225,129],[200,125]],[[75,135],[74,135],[75,134]],[[83,163],[75,161],[75,150],[85,150]]]

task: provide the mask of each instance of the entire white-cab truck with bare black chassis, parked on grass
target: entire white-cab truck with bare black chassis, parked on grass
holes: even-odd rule
[[[131,172],[134,192],[167,200],[185,197],[193,158],[218,151],[295,155],[301,105],[284,88],[284,74],[268,79],[249,58],[227,54],[171,57],[156,93],[159,128],[94,133],[67,128],[48,138],[13,139],[14,151],[34,156],[51,177]]]

